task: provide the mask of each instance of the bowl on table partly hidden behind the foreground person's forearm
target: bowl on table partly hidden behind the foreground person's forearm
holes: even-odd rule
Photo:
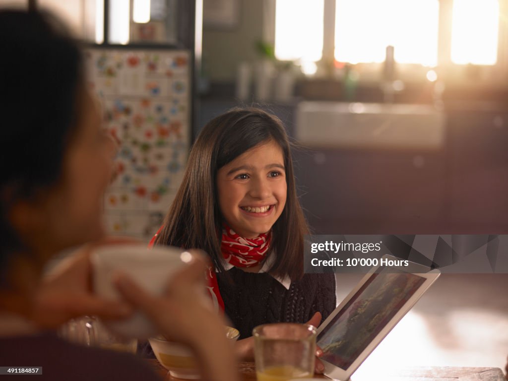
[[[226,327],[226,337],[236,341],[240,332]],[[171,376],[182,379],[199,379],[201,375],[193,351],[186,345],[165,340],[162,337],[149,338],[150,346],[158,362],[169,370]]]

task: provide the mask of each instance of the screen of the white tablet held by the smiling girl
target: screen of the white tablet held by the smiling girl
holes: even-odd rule
[[[317,336],[322,359],[347,369],[388,324],[425,278],[383,269],[362,285]]]

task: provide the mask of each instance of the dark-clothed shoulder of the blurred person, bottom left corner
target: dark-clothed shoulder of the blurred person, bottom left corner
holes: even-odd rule
[[[53,333],[2,337],[0,352],[5,364],[42,367],[43,379],[160,380],[147,362],[132,354],[77,345]]]

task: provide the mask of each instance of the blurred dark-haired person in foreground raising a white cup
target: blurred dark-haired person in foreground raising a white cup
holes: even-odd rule
[[[45,330],[79,315],[121,319],[139,308],[165,336],[194,348],[207,379],[235,381],[224,322],[196,302],[206,270],[197,257],[164,297],[118,278],[130,303],[92,294],[86,249],[42,279],[55,253],[103,236],[101,199],[114,147],[86,90],[79,48],[56,20],[0,11],[0,51],[0,141],[10,159],[0,163],[2,365],[43,366],[43,379],[51,380],[155,381],[132,355],[75,345]]]

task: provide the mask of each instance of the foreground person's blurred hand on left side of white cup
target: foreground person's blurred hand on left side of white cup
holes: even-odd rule
[[[104,299],[92,292],[91,251],[101,245],[134,243],[131,238],[107,238],[88,244],[62,260],[42,279],[31,311],[32,320],[42,328],[54,329],[74,317],[97,315],[105,320],[125,319],[132,307]]]

